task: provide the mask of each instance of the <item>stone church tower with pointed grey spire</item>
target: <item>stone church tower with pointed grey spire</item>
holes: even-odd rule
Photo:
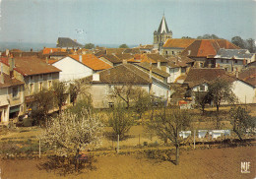
[[[164,44],[164,42],[168,38],[172,38],[172,31],[168,29],[167,23],[163,15],[160,22],[159,30],[154,31],[154,48],[157,48],[160,50],[161,46]]]

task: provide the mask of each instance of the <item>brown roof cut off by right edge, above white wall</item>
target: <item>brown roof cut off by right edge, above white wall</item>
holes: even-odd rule
[[[256,67],[250,67],[238,74],[238,79],[256,87]]]

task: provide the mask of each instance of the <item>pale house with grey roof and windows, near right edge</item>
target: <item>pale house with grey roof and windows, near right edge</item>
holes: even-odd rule
[[[255,54],[247,49],[220,49],[211,64],[213,68],[224,68],[226,72],[240,72],[254,60]]]

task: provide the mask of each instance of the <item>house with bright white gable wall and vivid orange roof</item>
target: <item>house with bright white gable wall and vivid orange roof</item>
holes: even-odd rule
[[[59,80],[64,82],[85,78],[112,67],[94,54],[69,55],[52,62],[52,66],[61,70]]]

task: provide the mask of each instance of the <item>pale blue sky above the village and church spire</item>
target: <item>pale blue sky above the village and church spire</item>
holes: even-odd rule
[[[173,38],[256,39],[256,0],[0,0],[0,41],[152,44],[163,13]]]

